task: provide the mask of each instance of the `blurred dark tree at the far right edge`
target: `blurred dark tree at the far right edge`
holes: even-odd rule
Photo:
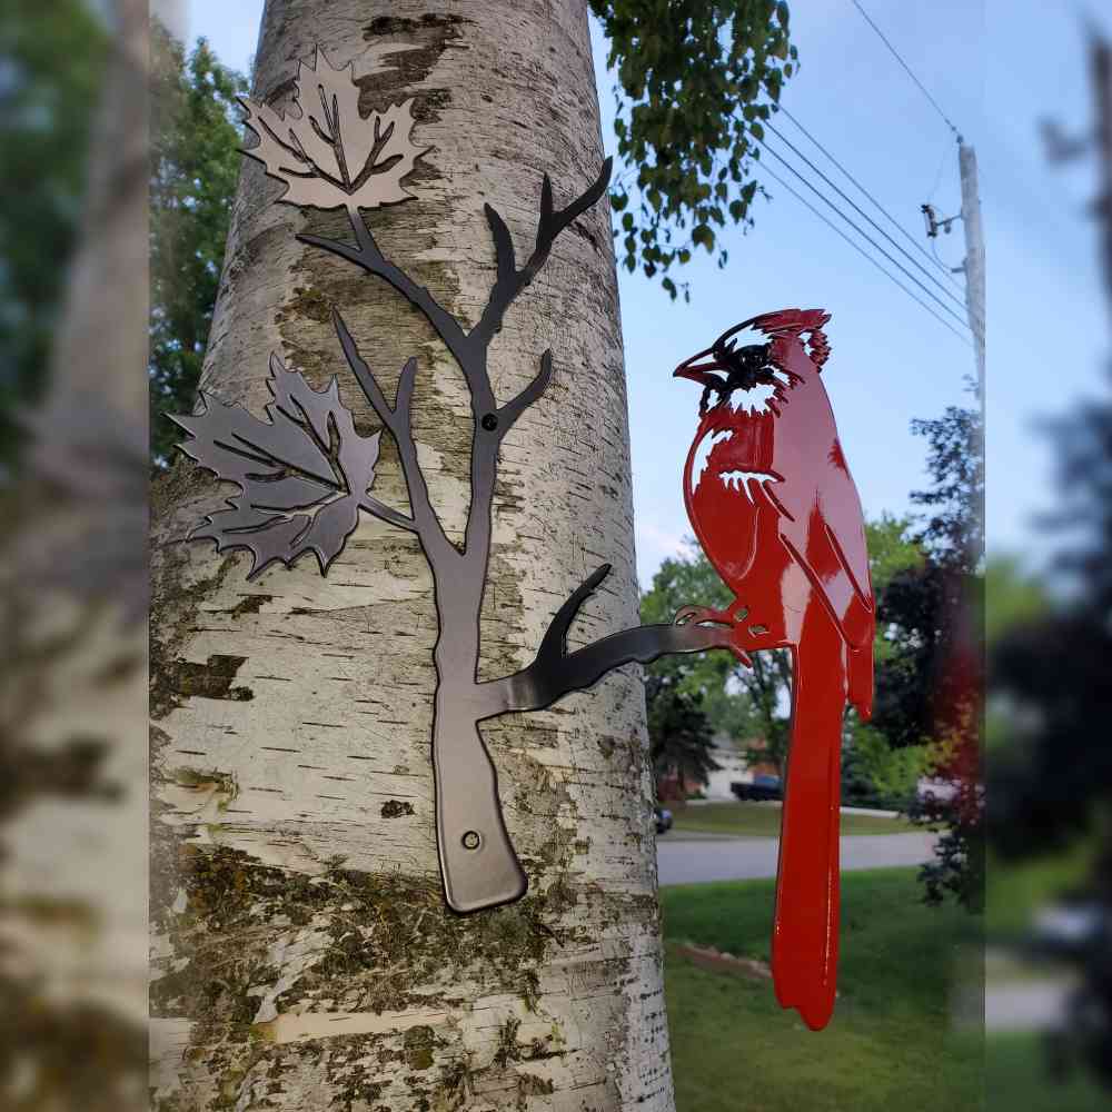
[[[990,646],[993,689],[1010,711],[1007,744],[991,765],[992,841],[1010,857],[1100,831],[1112,798],[1103,741],[1112,721],[1112,401],[1089,403],[1052,428],[1054,522],[1069,530],[1059,564],[1073,593],[1054,605],[1030,582],[1006,584],[1015,620]],[[1112,906],[1112,886],[1105,898]]]

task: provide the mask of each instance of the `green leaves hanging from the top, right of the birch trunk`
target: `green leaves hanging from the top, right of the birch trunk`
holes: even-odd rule
[[[669,275],[697,247],[728,252],[727,222],[753,224],[763,121],[798,68],[783,0],[592,0],[617,77],[614,130],[626,173],[610,200],[626,269]],[[686,284],[684,297],[689,297]]]

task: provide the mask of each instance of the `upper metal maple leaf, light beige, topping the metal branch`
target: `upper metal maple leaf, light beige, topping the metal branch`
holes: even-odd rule
[[[401,179],[430,148],[415,147],[413,99],[359,112],[359,87],[349,62],[335,69],[318,48],[312,64],[299,62],[288,113],[240,98],[244,122],[259,137],[244,153],[284,182],[287,205],[329,209],[378,208],[413,195]]]

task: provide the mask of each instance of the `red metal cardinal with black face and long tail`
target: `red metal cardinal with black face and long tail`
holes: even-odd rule
[[[687,514],[735,596],[726,610],[689,606],[676,620],[728,625],[745,663],[761,649],[792,653],[772,969],[776,999],[812,1030],[834,1009],[842,719],[846,702],[872,714],[875,628],[861,500],[820,377],[828,319],[820,309],[754,317],[675,370],[704,387]],[[745,328],[768,342],[736,347]],[[752,405],[758,391],[763,408]]]

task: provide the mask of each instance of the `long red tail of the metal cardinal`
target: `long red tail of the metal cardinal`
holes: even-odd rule
[[[772,971],[782,1007],[813,1031],[830,1022],[837,984],[838,806],[846,646],[815,607],[794,651],[792,738],[780,838]]]

